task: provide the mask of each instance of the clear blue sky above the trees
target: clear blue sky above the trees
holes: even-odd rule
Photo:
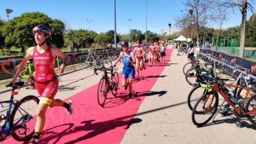
[[[169,29],[168,24],[171,24],[171,29],[176,29],[175,18],[187,9],[183,3],[184,0],[116,0],[116,31],[126,34],[129,29],[139,29],[144,33],[147,27],[160,34],[161,29]],[[0,18],[7,21],[5,9],[13,10],[9,20],[24,12],[43,12],[50,18],[62,20],[66,29],[100,32],[114,29],[114,0],[0,0]],[[239,26],[240,12],[229,13],[223,27]],[[248,12],[247,19],[251,15]],[[211,22],[208,27],[218,25]]]

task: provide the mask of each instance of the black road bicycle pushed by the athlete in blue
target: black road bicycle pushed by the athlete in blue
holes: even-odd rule
[[[104,103],[106,101],[108,92],[112,92],[114,97],[117,97],[117,91],[118,91],[118,84],[119,84],[119,76],[117,71],[113,71],[113,67],[111,66],[110,68],[105,68],[105,67],[100,67],[100,68],[95,68],[94,73],[96,73],[97,70],[103,71],[102,78],[100,79],[100,82],[98,83],[98,90],[97,90],[97,98],[98,98],[98,104],[101,107],[104,107]],[[108,72],[110,71],[110,72]],[[110,74],[110,77],[108,77],[108,74]]]

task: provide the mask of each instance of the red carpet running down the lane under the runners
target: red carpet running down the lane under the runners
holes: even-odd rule
[[[173,49],[167,49],[165,63],[169,63],[172,52]],[[158,96],[158,92],[150,90],[164,68],[165,65],[158,64],[158,67],[148,66],[146,71],[141,71],[140,81],[133,83],[132,99],[127,98],[128,91],[121,87],[118,91],[120,98],[114,98],[110,92],[102,108],[97,103],[98,84],[95,84],[68,98],[74,102],[72,116],[68,116],[63,107],[49,109],[40,143],[120,143],[129,125],[140,122],[139,118],[133,118],[144,98]],[[2,143],[19,142],[9,137]]]

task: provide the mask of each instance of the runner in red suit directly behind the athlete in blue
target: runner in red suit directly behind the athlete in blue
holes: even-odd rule
[[[144,64],[143,56],[146,54],[143,48],[140,46],[140,41],[137,41],[137,45],[135,46],[133,53],[136,54],[136,73],[137,78],[140,77],[140,71],[142,69],[146,69],[146,65]]]

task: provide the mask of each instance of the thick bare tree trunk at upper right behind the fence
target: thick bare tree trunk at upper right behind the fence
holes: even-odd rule
[[[245,22],[247,15],[247,0],[244,0],[242,6],[242,23],[241,23],[241,39],[240,39],[240,58],[244,58],[244,45],[245,45]]]

